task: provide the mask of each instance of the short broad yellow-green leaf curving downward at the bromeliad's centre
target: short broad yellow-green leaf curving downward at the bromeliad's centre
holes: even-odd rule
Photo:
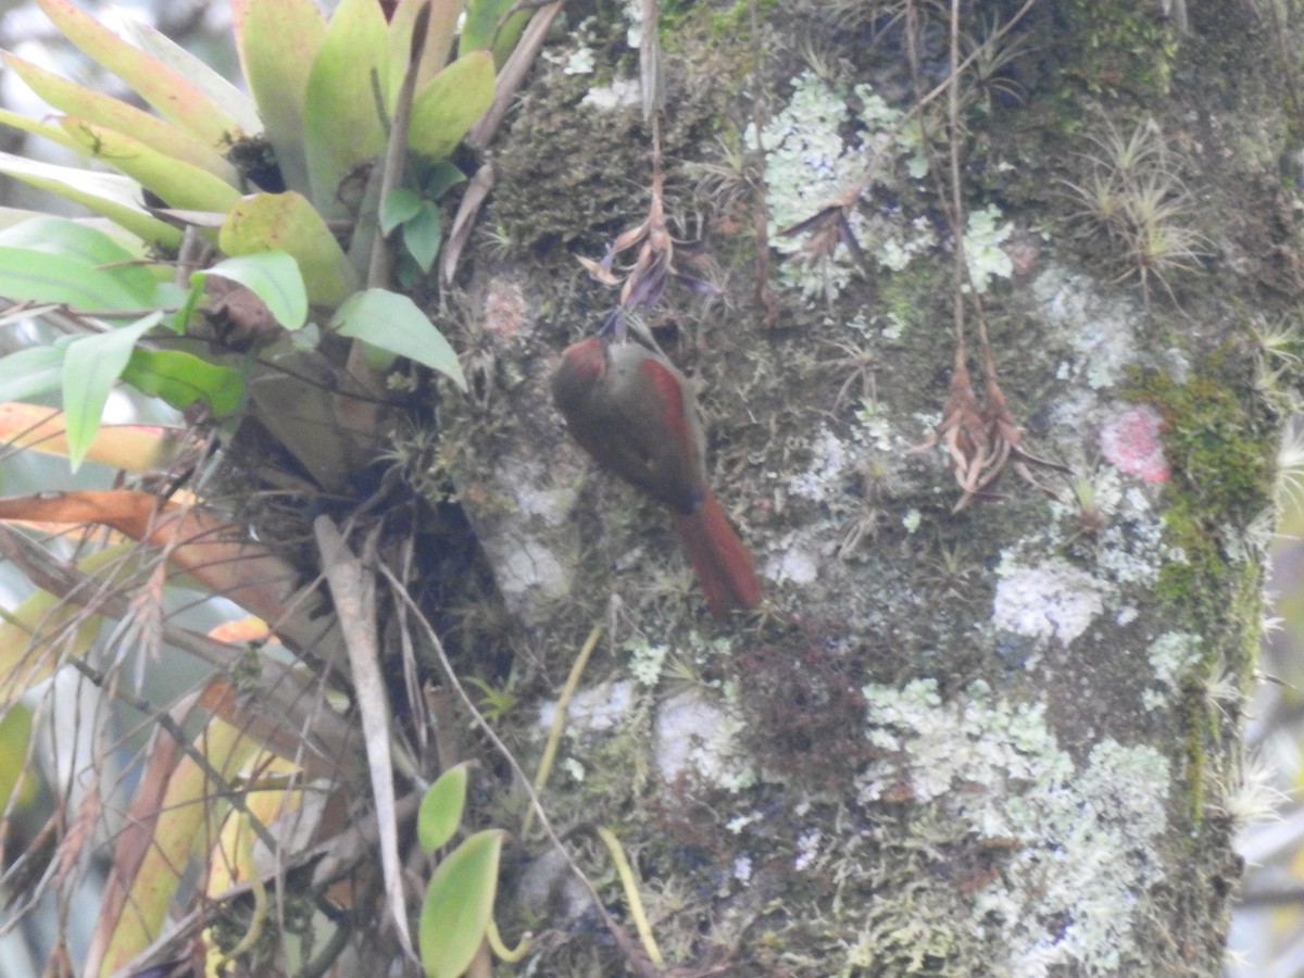
[[[231,209],[218,246],[227,254],[288,252],[299,262],[308,299],[335,306],[357,291],[357,273],[335,236],[303,194],[259,193]]]

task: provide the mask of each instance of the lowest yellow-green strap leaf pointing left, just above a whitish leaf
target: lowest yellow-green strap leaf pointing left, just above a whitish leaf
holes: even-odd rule
[[[126,173],[156,193],[170,207],[226,211],[240,200],[240,190],[220,177],[150,149],[129,136],[73,116],[65,116],[59,123],[82,153]]]

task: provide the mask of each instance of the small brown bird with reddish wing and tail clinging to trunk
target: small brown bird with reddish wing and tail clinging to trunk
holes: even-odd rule
[[[604,327],[566,348],[553,400],[600,466],[668,506],[712,614],[760,601],[751,554],[707,488],[689,381],[660,353]]]

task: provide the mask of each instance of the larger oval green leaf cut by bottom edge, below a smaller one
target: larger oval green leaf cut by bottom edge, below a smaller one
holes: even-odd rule
[[[421,962],[429,978],[458,978],[480,949],[498,889],[502,829],[485,829],[439,863],[421,904]]]

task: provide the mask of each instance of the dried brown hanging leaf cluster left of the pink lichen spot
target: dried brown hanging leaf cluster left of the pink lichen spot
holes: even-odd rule
[[[1022,447],[1022,439],[1024,429],[1015,421],[1005,394],[995,378],[988,373],[983,402],[979,402],[969,368],[957,364],[951,376],[951,395],[941,415],[941,424],[911,451],[926,451],[939,441],[945,443],[952,472],[961,489],[960,499],[951,511],[960,512],[975,499],[1001,498],[991,492],[991,488],[1011,463],[1028,482],[1047,496],[1056,496],[1033,476],[1029,466],[1043,466],[1059,472],[1068,469],[1031,454]]]

